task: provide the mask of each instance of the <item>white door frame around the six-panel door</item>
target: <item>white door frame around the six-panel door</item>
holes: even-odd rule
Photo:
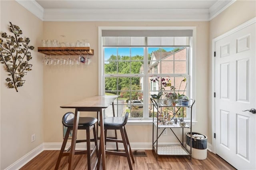
[[[215,57],[214,57],[214,51],[216,51],[215,42],[218,40],[221,40],[222,38],[225,38],[227,36],[230,36],[231,34],[234,34],[235,32],[238,32],[239,30],[242,30],[243,28],[246,28],[252,24],[256,23],[256,17],[252,18],[251,20],[248,20],[244,22],[243,24],[237,26],[236,28],[233,28],[232,30],[229,30],[228,32],[212,39],[212,152],[216,154],[216,138],[214,138],[214,133],[216,132],[215,129],[215,98],[214,98],[214,92],[215,92]]]

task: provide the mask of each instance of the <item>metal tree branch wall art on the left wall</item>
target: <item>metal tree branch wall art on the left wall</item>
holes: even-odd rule
[[[15,88],[18,92],[18,87],[24,85],[24,76],[27,75],[26,71],[31,71],[32,64],[28,61],[32,59],[30,50],[33,50],[33,46],[29,46],[29,38],[21,38],[22,30],[16,25],[12,25],[10,22],[10,32],[12,35],[7,35],[5,32],[1,34],[0,38],[0,62],[4,64],[6,71],[8,72],[8,78],[6,78],[8,88]]]

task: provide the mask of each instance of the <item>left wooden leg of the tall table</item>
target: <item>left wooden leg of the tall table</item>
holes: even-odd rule
[[[78,109],[76,109],[75,117],[74,117],[74,126],[73,126],[72,140],[71,140],[71,150],[70,150],[70,156],[69,156],[68,170],[73,169],[73,157],[76,150],[76,134],[78,129],[79,115],[80,115],[80,112],[78,111]]]

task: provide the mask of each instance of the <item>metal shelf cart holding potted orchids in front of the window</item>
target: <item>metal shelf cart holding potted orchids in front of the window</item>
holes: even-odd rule
[[[150,99],[153,103],[153,140],[152,140],[152,150],[156,154],[156,160],[158,159],[158,155],[188,155],[192,156],[192,140],[190,140],[190,150],[187,150],[187,148],[184,146],[184,128],[190,128],[190,134],[192,134],[192,107],[195,103],[194,99],[189,99],[189,105],[188,106],[182,106],[182,105],[176,105],[176,106],[168,106],[168,105],[162,105],[161,103],[157,103],[154,99]],[[182,108],[182,112],[184,113],[184,107],[190,108],[190,125],[186,123],[183,127],[177,124],[172,125],[159,125],[158,123],[158,113],[160,113],[159,109],[163,107],[178,107],[177,111],[175,112],[174,108],[174,115],[172,119],[175,117],[175,115],[178,113],[180,108]],[[154,111],[156,109],[156,118],[154,118]],[[184,120],[184,116],[182,114],[182,118]],[[171,119],[171,121],[172,121]],[[154,138],[154,128],[156,128],[156,139]],[[160,130],[160,134],[158,130],[162,128],[163,130]],[[166,128],[170,128],[174,136],[177,138],[177,140],[180,142],[179,145],[158,145],[158,139],[163,134],[164,130]],[[182,139],[180,140],[178,136],[175,134],[175,132],[172,130],[172,128],[182,128]]]

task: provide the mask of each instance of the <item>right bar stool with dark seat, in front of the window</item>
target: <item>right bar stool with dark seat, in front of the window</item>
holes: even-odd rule
[[[119,155],[119,156],[125,156],[128,160],[128,164],[130,167],[130,170],[132,170],[132,163],[130,160],[130,157],[132,158],[132,162],[134,163],[134,158],[132,156],[132,149],[128,140],[128,136],[125,130],[125,125],[128,121],[128,115],[129,113],[126,112],[123,117],[106,117],[104,118],[104,129],[105,129],[105,145],[106,142],[121,142],[124,144],[124,151],[125,152],[118,152],[118,151],[112,151],[112,150],[106,150],[106,154],[113,154],[113,155]],[[120,130],[122,140],[114,139],[114,138],[108,138],[107,130]],[[101,152],[101,148],[100,148]],[[99,166],[99,164],[98,164]]]

